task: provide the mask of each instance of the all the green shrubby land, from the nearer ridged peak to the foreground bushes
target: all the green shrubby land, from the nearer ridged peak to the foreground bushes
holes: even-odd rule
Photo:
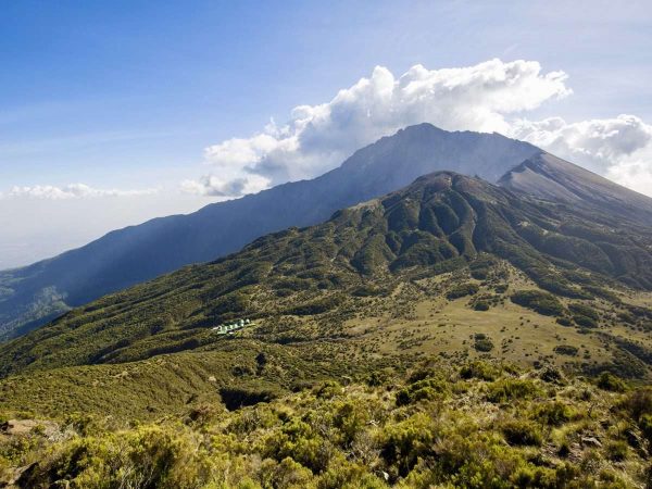
[[[3,344],[0,469],[21,488],[641,487],[650,289],[652,229],[428,175]]]

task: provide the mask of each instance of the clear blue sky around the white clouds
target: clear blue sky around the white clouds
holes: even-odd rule
[[[542,75],[563,71],[573,93],[527,110],[524,102],[509,117],[572,124],[631,114],[648,130],[650,3],[568,3],[3,2],[0,255],[10,258],[0,268],[224,198],[231,185],[179,190],[216,172],[206,170],[205,148],[259,134],[272,117],[285,124],[292,108],[329,102],[377,65],[398,79],[416,64],[529,60]],[[300,175],[317,171],[306,168]],[[283,175],[261,174],[258,187],[246,188],[291,178]],[[71,184],[142,195],[7,198],[14,186]]]

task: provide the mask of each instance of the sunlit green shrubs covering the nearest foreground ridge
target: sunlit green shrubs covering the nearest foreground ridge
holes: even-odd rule
[[[532,374],[427,362],[402,381],[397,374],[374,387],[327,381],[235,411],[203,403],[131,427],[76,414],[13,418],[0,438],[1,477],[21,488],[85,489],[645,484],[649,448],[636,443],[649,429],[649,390],[612,394]],[[488,412],[484,399],[499,390],[511,401]]]

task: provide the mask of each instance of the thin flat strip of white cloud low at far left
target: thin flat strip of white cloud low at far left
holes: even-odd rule
[[[7,193],[0,193],[4,199],[43,199],[43,200],[63,200],[63,199],[85,199],[97,197],[134,197],[156,193],[158,189],[143,190],[118,190],[118,189],[98,189],[85,184],[71,184],[64,187],[52,185],[35,186],[14,186]]]

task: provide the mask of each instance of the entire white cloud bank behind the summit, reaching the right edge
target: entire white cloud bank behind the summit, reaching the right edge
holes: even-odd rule
[[[356,149],[428,122],[448,130],[497,131],[527,140],[615,181],[652,195],[652,126],[634,115],[566,122],[526,118],[572,93],[563,72],[535,61],[490,60],[474,66],[411,67],[396,77],[377,66],[368,78],[318,105],[294,108],[285,125],[204,150],[208,175],[186,180],[191,193],[238,197],[334,168]]]

